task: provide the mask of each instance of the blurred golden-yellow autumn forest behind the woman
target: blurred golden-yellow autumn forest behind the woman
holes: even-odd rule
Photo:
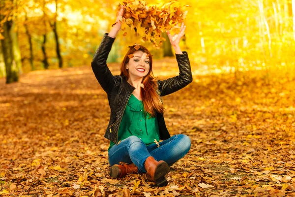
[[[13,51],[11,58],[15,62],[8,61],[6,67],[17,73],[90,65],[103,34],[115,20],[118,3],[118,0],[1,0],[0,76],[6,75],[3,52],[9,50]],[[294,0],[181,0],[179,5],[189,5],[185,8],[187,28],[181,45],[190,54],[194,74],[238,75],[242,70],[264,70],[260,75],[265,77],[278,69],[283,74],[294,73]],[[109,62],[120,62],[126,46],[143,44],[140,37],[134,36],[134,30],[127,27],[126,31],[125,37],[118,36]],[[156,58],[167,53],[164,49],[169,50],[169,43],[162,45],[160,53],[148,43],[144,45],[149,46]]]

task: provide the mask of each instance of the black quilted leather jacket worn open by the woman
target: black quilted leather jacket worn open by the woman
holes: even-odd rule
[[[128,99],[135,88],[123,77],[119,75],[114,76],[107,66],[108,55],[111,51],[114,40],[115,38],[108,36],[107,33],[104,35],[99,48],[95,52],[91,67],[99,84],[108,95],[111,108],[110,122],[104,136],[117,144],[118,129],[122,116]],[[176,54],[176,59],[179,67],[179,75],[166,80],[157,81],[158,90],[156,90],[156,92],[161,97],[174,93],[192,82],[192,72],[187,53],[183,52],[183,54]],[[156,115],[160,131],[160,139],[168,139],[170,134],[166,128],[164,116],[160,113],[157,113]]]

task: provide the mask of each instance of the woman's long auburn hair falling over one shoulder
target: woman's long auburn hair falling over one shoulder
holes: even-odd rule
[[[154,80],[154,76],[152,73],[152,57],[148,49],[142,45],[139,45],[140,48],[136,50],[134,45],[130,47],[128,52],[126,53],[121,66],[120,66],[120,76],[124,77],[126,81],[129,79],[129,71],[126,69],[126,64],[128,64],[130,58],[128,55],[135,53],[136,51],[142,51],[148,54],[149,58],[149,70],[148,74],[144,76],[142,83],[144,84],[144,88],[141,87],[140,96],[144,103],[145,112],[148,112],[151,117],[156,116],[156,112],[161,114],[164,113],[164,106],[160,99],[160,96],[157,94],[156,89],[158,88],[157,82]]]

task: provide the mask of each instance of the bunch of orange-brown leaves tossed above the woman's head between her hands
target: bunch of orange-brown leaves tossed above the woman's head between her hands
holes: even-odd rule
[[[162,6],[148,6],[145,0],[123,0],[121,5],[125,6],[122,23],[134,29],[136,36],[141,35],[145,42],[151,42],[155,47],[165,41],[161,33],[178,29],[177,24],[181,24],[187,14],[181,6],[176,6],[176,0]],[[160,40],[159,44],[157,40]]]

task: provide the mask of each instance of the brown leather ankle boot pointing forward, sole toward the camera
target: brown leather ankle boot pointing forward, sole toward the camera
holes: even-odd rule
[[[165,175],[168,173],[169,166],[164,161],[157,162],[153,157],[148,157],[145,162],[148,180],[152,180],[158,187],[168,184]]]

